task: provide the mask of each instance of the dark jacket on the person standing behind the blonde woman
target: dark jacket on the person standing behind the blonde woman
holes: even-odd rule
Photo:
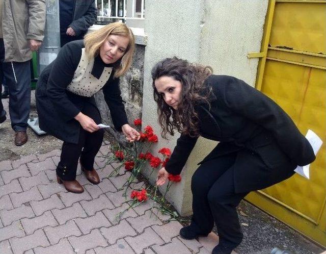
[[[75,31],[76,36],[84,35],[87,33],[89,27],[97,20],[97,8],[95,0],[75,0],[72,22],[68,27]]]

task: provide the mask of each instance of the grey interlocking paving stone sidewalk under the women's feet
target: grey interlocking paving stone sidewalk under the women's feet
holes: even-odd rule
[[[93,185],[81,174],[84,193],[74,194],[56,181],[60,150],[0,162],[0,253],[211,253],[218,237],[184,240],[182,225],[151,214],[152,200],[129,209],[121,185],[128,172],[107,176],[108,145],[102,145],[95,169],[101,183]],[[128,194],[131,189],[128,190]],[[154,211],[155,212],[155,211]]]

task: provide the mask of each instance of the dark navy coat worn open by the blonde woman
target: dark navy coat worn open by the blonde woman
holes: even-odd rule
[[[96,106],[94,96],[86,97],[69,92],[67,86],[73,79],[78,78],[82,71],[76,72],[82,58],[83,40],[72,41],[61,48],[55,61],[49,64],[41,73],[36,88],[36,106],[40,128],[48,134],[63,141],[76,144],[79,138],[80,124],[74,117],[83,111],[84,105],[90,103]],[[84,59],[85,56],[83,56]],[[82,60],[83,60],[82,59]],[[87,61],[85,59],[85,61]],[[92,63],[87,63],[91,65]],[[113,65],[105,64],[100,56],[94,58],[90,73],[92,79],[100,80],[104,67],[113,68]],[[126,112],[121,98],[119,79],[113,78],[113,72],[108,80],[103,82],[102,89],[104,99],[110,109],[112,121],[117,130],[128,123]],[[95,78],[94,78],[95,77]],[[86,77],[85,77],[86,78]],[[91,78],[81,81],[80,86],[89,84]],[[91,82],[90,82],[91,83]]]

